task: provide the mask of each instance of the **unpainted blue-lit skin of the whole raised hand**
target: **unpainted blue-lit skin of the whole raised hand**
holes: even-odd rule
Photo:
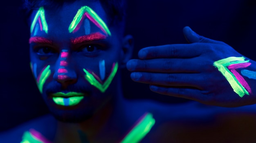
[[[237,69],[252,92],[240,97],[227,79],[213,66],[215,61],[231,56],[242,57],[232,47],[221,41],[202,37],[189,27],[183,29],[189,44],[161,45],[143,48],[139,59],[127,63],[135,82],[150,85],[156,93],[195,100],[203,104],[238,107],[256,103],[255,80],[240,73],[240,70],[256,71],[255,61],[248,67]]]

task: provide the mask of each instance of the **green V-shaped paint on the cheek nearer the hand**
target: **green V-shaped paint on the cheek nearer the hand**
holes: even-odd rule
[[[113,63],[110,75],[108,76],[108,78],[106,79],[106,81],[104,83],[101,81],[99,76],[97,76],[93,72],[88,72],[88,70],[86,70],[86,69],[83,69],[83,71],[85,72],[85,79],[91,85],[93,85],[94,87],[99,89],[102,93],[104,93],[106,91],[106,89],[108,89],[108,87],[109,87],[110,83],[112,82],[115,74],[117,73],[117,69],[118,69],[118,63]],[[101,70],[103,70],[103,69],[101,69]]]

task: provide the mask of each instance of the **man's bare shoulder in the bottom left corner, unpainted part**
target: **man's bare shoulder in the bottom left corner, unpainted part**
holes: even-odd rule
[[[56,126],[56,120],[51,115],[43,115],[41,117],[27,121],[15,128],[11,128],[0,133],[1,143],[20,143],[22,136],[30,129],[37,130],[39,132],[49,132],[49,136],[54,132]],[[47,134],[48,136],[48,134]]]

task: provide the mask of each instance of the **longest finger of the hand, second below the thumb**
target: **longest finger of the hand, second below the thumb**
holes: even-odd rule
[[[158,72],[158,73],[199,73],[203,62],[199,58],[157,58],[149,60],[132,59],[126,67],[131,72]]]

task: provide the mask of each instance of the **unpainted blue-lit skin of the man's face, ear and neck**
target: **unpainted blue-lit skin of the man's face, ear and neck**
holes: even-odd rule
[[[73,42],[73,39],[81,39],[79,37],[85,36],[83,28],[74,33],[68,31],[74,15],[81,6],[90,6],[95,9],[99,17],[109,25],[108,28],[112,35],[107,35],[106,39]],[[36,11],[33,14],[35,13]],[[31,20],[34,18],[33,14]],[[31,35],[30,39],[40,38],[30,41],[30,57],[31,63],[37,65],[36,72],[40,72],[47,65],[50,66],[51,74],[43,84],[42,96],[49,110],[60,120],[56,123],[54,142],[79,142],[81,134],[85,134],[83,137],[87,137],[89,141],[99,141],[102,136],[107,137],[108,134],[113,133],[111,130],[113,125],[118,125],[115,130],[119,130],[119,132],[108,140],[110,142],[113,139],[120,140],[120,137],[143,112],[131,115],[132,120],[127,121],[124,118],[124,113],[119,110],[127,105],[122,98],[121,87],[119,87],[121,85],[119,70],[108,89],[101,92],[85,79],[83,69],[88,69],[99,76],[99,61],[102,59],[105,60],[106,76],[110,75],[113,63],[120,63],[119,65],[124,67],[122,63],[126,63],[131,55],[133,43],[130,41],[133,41],[132,37],[127,35],[120,40],[120,32],[116,31],[115,26],[109,24],[108,16],[99,2],[76,1],[69,5],[64,4],[59,9],[45,8],[45,18],[49,29],[48,33],[38,30],[36,35]],[[104,35],[104,32],[91,23],[90,34],[96,32]],[[95,46],[94,50],[88,51],[88,46]],[[66,78],[59,78],[60,70],[58,69],[60,69],[60,62],[63,61],[60,53],[63,50],[68,51],[68,56],[65,59],[67,72],[65,71]],[[61,104],[56,104],[52,98],[52,96],[60,95],[56,94],[58,92],[83,93],[83,99],[74,106],[61,106]],[[64,114],[65,117],[63,117]],[[118,118],[116,118],[117,116]],[[123,122],[126,122],[127,125],[122,126]]]

